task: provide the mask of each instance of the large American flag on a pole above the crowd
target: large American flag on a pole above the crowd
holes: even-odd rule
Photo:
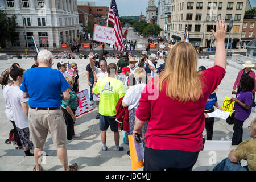
[[[115,3],[115,0],[112,0],[111,2],[109,16],[108,16],[108,23],[111,23],[114,25],[115,47],[117,47],[118,51],[123,52],[125,50],[125,47],[123,45],[123,32],[122,32],[122,27],[121,27],[119,14],[117,10],[117,3]]]

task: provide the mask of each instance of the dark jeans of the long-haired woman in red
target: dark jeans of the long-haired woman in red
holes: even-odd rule
[[[156,150],[145,147],[144,171],[192,171],[198,152]]]

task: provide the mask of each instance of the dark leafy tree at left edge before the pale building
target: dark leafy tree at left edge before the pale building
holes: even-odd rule
[[[16,16],[12,15],[10,19],[7,19],[5,11],[0,10],[0,46],[6,47],[6,40],[14,41],[19,36],[19,32],[16,32],[18,24],[16,23]]]

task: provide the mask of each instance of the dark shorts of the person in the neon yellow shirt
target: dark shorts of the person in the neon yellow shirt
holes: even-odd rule
[[[118,131],[117,121],[115,116],[104,116],[100,114],[100,130],[105,131],[110,126],[111,131]]]

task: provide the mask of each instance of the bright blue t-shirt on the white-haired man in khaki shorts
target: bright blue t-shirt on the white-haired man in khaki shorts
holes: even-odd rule
[[[48,67],[27,69],[23,76],[20,90],[28,92],[31,107],[59,107],[61,105],[60,92],[70,87],[63,74]]]

